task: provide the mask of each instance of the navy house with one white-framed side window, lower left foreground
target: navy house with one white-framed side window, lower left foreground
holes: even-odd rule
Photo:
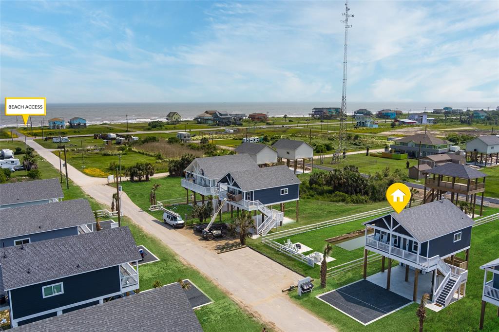
[[[1,248],[11,326],[62,315],[139,289],[140,259],[128,227]]]

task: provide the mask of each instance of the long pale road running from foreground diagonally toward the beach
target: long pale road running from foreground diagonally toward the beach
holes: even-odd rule
[[[59,168],[58,158],[33,140],[28,145],[54,167]],[[68,175],[77,185],[102,204],[108,205],[115,192],[103,185],[101,178],[87,176],[68,164]],[[296,284],[298,274],[284,268],[263,255],[243,248],[218,255],[203,247],[200,241],[167,228],[149,213],[141,210],[123,193],[122,208],[126,216],[146,232],[159,238],[173,249],[181,259],[194,266],[233,300],[277,331],[335,331],[308,311],[292,302],[282,289]]]

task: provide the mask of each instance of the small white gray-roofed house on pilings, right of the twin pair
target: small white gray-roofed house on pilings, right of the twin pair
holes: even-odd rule
[[[286,165],[289,167],[290,162],[293,161],[295,174],[300,159],[303,161],[303,172],[305,172],[306,159],[310,159],[313,166],[313,147],[306,142],[280,139],[272,145],[272,148],[277,151],[278,163],[285,159]]]

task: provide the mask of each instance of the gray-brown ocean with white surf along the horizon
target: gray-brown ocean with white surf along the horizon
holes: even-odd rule
[[[149,122],[164,120],[168,112],[178,112],[183,119],[194,119],[198,114],[207,110],[227,111],[229,113],[268,113],[269,116],[307,116],[314,107],[340,107],[340,102],[303,102],[303,103],[79,103],[79,104],[50,104],[47,103],[47,116],[30,117],[33,126],[39,126],[43,119],[44,124],[51,118],[64,118],[67,122],[73,117],[87,120],[87,124],[123,123],[128,115],[129,122]],[[382,109],[399,109],[404,113],[422,112],[425,110],[440,109],[446,106],[464,109],[495,109],[496,104],[483,102],[452,103],[452,102],[351,102],[347,105],[347,113],[353,114],[358,109],[368,109],[376,112]],[[5,106],[1,105],[4,110]],[[21,117],[17,123],[22,126]],[[29,120],[28,120],[29,124]],[[0,127],[16,125],[15,116],[5,116],[0,113]]]

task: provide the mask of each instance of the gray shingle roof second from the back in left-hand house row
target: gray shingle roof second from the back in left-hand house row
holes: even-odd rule
[[[86,199],[27,205],[1,210],[0,238],[74,227],[95,220]]]

